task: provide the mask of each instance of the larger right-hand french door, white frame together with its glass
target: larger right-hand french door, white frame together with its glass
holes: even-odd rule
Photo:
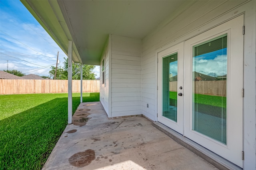
[[[241,15],[185,41],[183,97],[184,136],[241,168],[243,25]]]

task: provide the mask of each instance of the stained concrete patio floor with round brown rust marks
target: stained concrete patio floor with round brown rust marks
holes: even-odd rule
[[[88,102],[73,122],[78,125],[66,127],[43,170],[216,170],[145,117],[108,119],[100,102]]]

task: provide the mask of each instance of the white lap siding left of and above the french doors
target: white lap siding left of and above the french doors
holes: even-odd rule
[[[142,114],[156,120],[157,113],[157,51],[195,36],[192,31],[243,1],[192,1],[177,9],[142,40]],[[210,9],[210,10],[209,10]],[[218,24],[216,21],[214,21]],[[212,25],[214,26],[214,25]],[[210,27],[208,28],[210,29]],[[149,104],[149,107],[146,107]]]

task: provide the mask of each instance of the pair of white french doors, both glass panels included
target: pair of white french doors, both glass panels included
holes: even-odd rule
[[[241,15],[158,53],[158,121],[240,167],[243,25]]]

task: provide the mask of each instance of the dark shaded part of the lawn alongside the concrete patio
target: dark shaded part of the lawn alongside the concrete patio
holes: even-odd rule
[[[80,97],[73,97],[73,113]],[[99,101],[98,95],[83,102]],[[0,167],[42,169],[68,122],[68,98],[56,98],[0,121]]]

